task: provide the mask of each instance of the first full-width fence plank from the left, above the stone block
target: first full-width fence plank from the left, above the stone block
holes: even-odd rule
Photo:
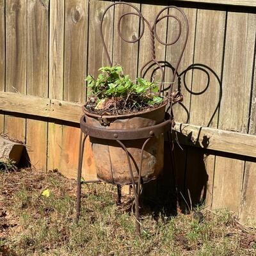
[[[6,92],[26,94],[27,1],[6,1]],[[4,132],[25,142],[26,119],[5,116]]]

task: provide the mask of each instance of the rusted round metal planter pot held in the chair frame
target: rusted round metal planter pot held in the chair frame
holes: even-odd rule
[[[129,115],[99,116],[84,109],[86,123],[101,129],[140,129],[160,124],[164,121],[166,104],[147,112]],[[141,148],[147,139],[122,140],[129,152],[134,181],[138,182],[141,163]],[[97,177],[112,184],[132,184],[131,173],[125,151],[115,140],[90,136]],[[141,179],[143,182],[156,179],[163,170],[163,134],[152,136],[143,150]]]

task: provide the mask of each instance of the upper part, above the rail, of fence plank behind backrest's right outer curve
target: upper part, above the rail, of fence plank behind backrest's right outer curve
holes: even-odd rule
[[[191,93],[189,93],[187,88],[191,90],[193,70],[188,70],[188,71],[186,70],[190,65],[193,64],[197,11],[195,8],[181,8],[181,10],[185,13],[188,19],[189,34],[188,34],[188,42],[186,44],[186,48],[178,68],[178,76],[182,76],[182,77],[180,77],[180,80],[176,77],[175,83],[173,84],[173,90],[177,90],[179,88],[184,99],[181,102],[182,104],[173,105],[173,114],[175,116],[175,121],[187,124],[189,122],[189,108],[190,108],[190,101],[191,101]],[[169,45],[166,47],[166,61],[171,62],[171,64],[174,67],[177,65],[177,61],[179,60],[179,56],[180,56],[180,51],[184,44],[185,35],[186,35],[184,30],[186,28],[185,27],[186,24],[182,15],[176,10],[170,10],[169,14],[179,17],[180,21],[182,22],[181,23],[182,33],[179,41],[174,45]],[[167,42],[169,43],[173,42],[173,40],[177,36],[178,29],[179,29],[178,23],[170,18],[168,20]],[[186,76],[184,76],[184,72],[186,72]],[[170,70],[170,68],[165,68],[165,81],[171,82],[172,76],[173,76],[172,70]],[[178,83],[178,81],[180,81],[180,83]],[[184,84],[184,81],[186,82],[186,86]],[[168,84],[166,84],[166,86],[168,86]]]

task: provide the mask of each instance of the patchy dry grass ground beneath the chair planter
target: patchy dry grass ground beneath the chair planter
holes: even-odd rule
[[[74,180],[31,169],[0,172],[0,255],[256,255],[255,230],[228,211],[202,207],[172,218],[143,214],[139,238],[132,198],[116,206],[115,193],[107,184],[83,186],[75,223]]]

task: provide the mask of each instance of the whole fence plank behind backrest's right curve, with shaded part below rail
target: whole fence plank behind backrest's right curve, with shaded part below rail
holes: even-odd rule
[[[195,8],[181,8],[181,10],[185,13],[186,17],[188,18],[189,23],[189,35],[188,35],[188,42],[180,61],[180,65],[178,68],[178,76],[182,74],[189,65],[193,64],[193,54],[194,54],[194,47],[195,47],[195,29],[196,29],[196,9]],[[179,60],[180,51],[184,44],[185,40],[185,31],[186,28],[185,20],[182,15],[177,12],[176,10],[170,10],[169,14],[175,15],[179,17],[181,21],[181,29],[182,33],[180,36],[179,41],[174,44],[166,47],[166,61],[171,62],[172,66],[174,67],[177,65],[177,61]],[[177,37],[177,33],[179,31],[178,23],[175,22],[173,19],[168,20],[168,31],[167,31],[167,42],[173,42],[173,40]],[[173,72],[170,68],[165,68],[165,81],[171,82],[172,81]],[[173,114],[175,121],[188,123],[189,122],[189,105],[190,105],[190,98],[191,95],[186,90],[184,86],[184,75],[180,77],[180,82],[178,82],[178,78],[175,78],[175,83],[173,84],[173,90],[177,90],[180,86],[180,92],[184,96],[184,100],[182,104],[175,104],[173,106]],[[180,84],[179,84],[180,83]],[[191,90],[191,83],[192,83],[192,70],[189,70],[186,73],[186,86]],[[165,84],[164,87],[168,86]],[[175,134],[173,133],[173,139],[175,139]],[[179,141],[178,141],[179,142]],[[175,145],[174,147],[174,157],[175,157],[175,179],[176,179],[176,186],[177,186],[177,193],[179,195],[180,204],[183,205],[184,199],[182,195],[184,195],[184,180],[185,180],[185,170],[186,170],[186,156],[188,148],[179,145]],[[182,195],[181,195],[182,194]]]

